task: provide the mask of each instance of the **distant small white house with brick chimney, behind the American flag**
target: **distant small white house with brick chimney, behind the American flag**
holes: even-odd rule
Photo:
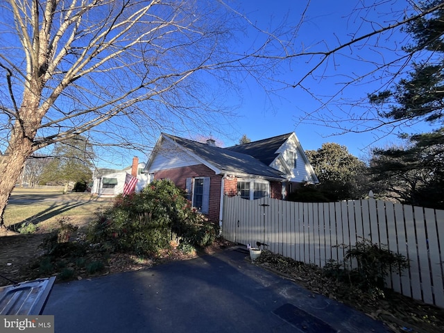
[[[140,191],[148,182],[148,176],[144,173],[145,166],[146,163],[139,163],[139,157],[135,156],[133,157],[133,164],[125,169],[97,169],[94,172],[91,194],[117,196],[117,194],[123,193],[127,174],[138,179],[135,189]]]

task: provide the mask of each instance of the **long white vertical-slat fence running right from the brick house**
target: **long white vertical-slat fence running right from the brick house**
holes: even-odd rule
[[[230,241],[260,241],[273,253],[321,267],[343,259],[345,250],[332,246],[370,239],[410,260],[409,271],[388,277],[388,287],[444,307],[444,210],[374,199],[293,203],[225,196],[222,230]]]

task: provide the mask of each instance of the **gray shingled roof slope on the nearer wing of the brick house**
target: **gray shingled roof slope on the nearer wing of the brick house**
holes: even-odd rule
[[[268,167],[267,164],[264,164],[251,155],[239,153],[228,148],[210,146],[182,137],[175,137],[168,134],[163,135],[223,172],[245,173],[253,176],[284,179],[284,173]]]

